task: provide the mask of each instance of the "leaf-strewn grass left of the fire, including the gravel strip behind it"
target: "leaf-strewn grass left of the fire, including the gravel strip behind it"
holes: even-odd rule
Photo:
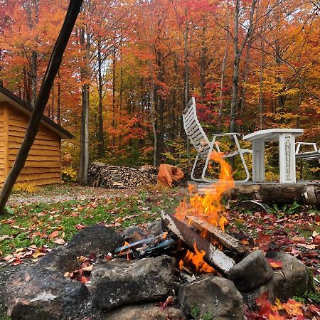
[[[12,260],[12,255],[25,257],[29,252],[26,257],[37,258],[47,247],[63,244],[95,223],[114,228],[143,226],[156,220],[161,210],[172,212],[183,193],[165,188],[110,191],[67,184],[41,188],[33,195],[14,194],[9,201],[14,215],[3,215],[0,220],[1,257]],[[38,202],[41,198],[46,201]]]

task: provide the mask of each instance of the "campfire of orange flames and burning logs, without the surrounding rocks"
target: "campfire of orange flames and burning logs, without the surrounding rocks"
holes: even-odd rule
[[[127,257],[129,260],[154,256],[155,251],[164,253],[169,250],[170,255],[177,257],[179,270],[189,274],[217,271],[226,274],[230,267],[235,265],[233,257],[242,257],[248,250],[225,233],[228,220],[221,202],[223,195],[228,193],[235,183],[231,167],[223,159],[223,154],[213,151],[211,159],[220,164],[221,168],[219,180],[213,184],[214,192],[199,196],[193,187],[189,186],[188,199],[180,203],[174,215],[161,213],[164,234],[158,238],[125,242],[113,252],[114,257]],[[228,250],[228,255],[223,252],[224,248]],[[182,257],[181,252],[185,252]]]

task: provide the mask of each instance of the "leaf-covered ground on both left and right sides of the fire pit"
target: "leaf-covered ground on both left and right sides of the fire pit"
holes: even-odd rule
[[[86,225],[103,223],[119,230],[129,225],[144,227],[159,218],[161,210],[173,213],[184,197],[183,188],[107,190],[74,183],[40,188],[33,194],[14,193],[9,200],[14,214],[0,218],[0,269],[23,267],[23,262],[40,259]],[[268,213],[260,213],[238,210],[237,201],[229,201],[225,208],[227,230],[242,244],[252,249],[288,252],[320,280],[319,211],[293,203],[272,206]],[[319,304],[320,294],[309,292],[299,299]]]

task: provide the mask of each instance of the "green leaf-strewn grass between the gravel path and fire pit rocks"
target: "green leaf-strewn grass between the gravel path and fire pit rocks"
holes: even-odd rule
[[[50,239],[51,233],[58,231],[57,238],[68,241],[78,232],[75,225],[79,224],[105,223],[121,229],[148,223],[159,217],[161,210],[172,212],[178,198],[172,190],[139,191],[99,200],[15,206],[14,215],[1,216],[0,251],[8,255],[31,245],[54,247],[55,238]]]

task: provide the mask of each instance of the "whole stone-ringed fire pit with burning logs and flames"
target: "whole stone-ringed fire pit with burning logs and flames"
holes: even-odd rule
[[[149,233],[136,227],[122,238],[91,226],[14,274],[6,285],[9,316],[238,320],[244,303],[255,309],[265,292],[272,302],[304,292],[302,262],[282,252],[250,252],[225,232],[221,198],[234,182],[222,157],[213,159],[221,166],[215,192],[201,197],[191,190],[189,201],[174,215],[161,213]]]

